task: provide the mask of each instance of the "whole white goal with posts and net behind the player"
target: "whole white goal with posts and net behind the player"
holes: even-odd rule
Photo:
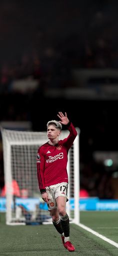
[[[79,224],[79,128],[68,152],[68,202],[70,221]],[[51,222],[47,205],[41,199],[36,154],[47,141],[46,132],[16,131],[0,128],[4,163],[6,224],[45,224]],[[63,130],[60,139],[68,136]]]

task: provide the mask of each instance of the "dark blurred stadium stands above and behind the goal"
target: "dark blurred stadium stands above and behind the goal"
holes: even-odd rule
[[[81,188],[99,198],[117,198],[118,161],[108,168],[93,158],[117,152],[117,9],[117,1],[103,0],[0,1],[0,122],[30,121],[43,131],[58,111],[67,112],[80,128]],[[81,84],[75,70],[92,73]],[[36,87],[21,90],[20,81]]]

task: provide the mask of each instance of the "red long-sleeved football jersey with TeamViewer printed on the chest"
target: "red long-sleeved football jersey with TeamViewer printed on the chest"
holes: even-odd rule
[[[39,189],[60,182],[68,182],[67,153],[71,147],[77,132],[72,123],[67,127],[69,135],[53,146],[48,142],[38,148],[37,151],[37,178]]]

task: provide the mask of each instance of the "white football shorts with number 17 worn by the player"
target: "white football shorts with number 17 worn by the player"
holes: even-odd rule
[[[68,187],[68,183],[67,182],[61,182],[55,185],[51,185],[48,187],[45,187],[46,192],[48,194],[48,210],[52,210],[55,209],[57,204],[56,204],[56,198],[58,196],[64,196],[66,198],[66,201],[68,201],[67,199],[67,187]]]

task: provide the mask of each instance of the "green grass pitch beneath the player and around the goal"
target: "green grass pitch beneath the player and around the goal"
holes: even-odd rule
[[[117,212],[80,212],[80,222],[109,239],[118,242]],[[117,256],[118,248],[96,237],[81,227],[70,224],[70,240],[75,251],[67,251],[52,224],[20,225],[5,224],[0,214],[1,256]]]

